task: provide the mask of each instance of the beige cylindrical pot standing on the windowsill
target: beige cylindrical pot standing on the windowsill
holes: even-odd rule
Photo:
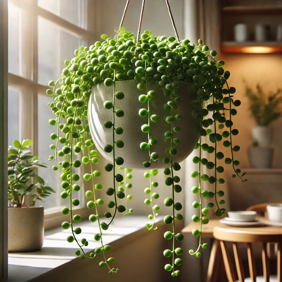
[[[41,249],[44,238],[44,208],[8,208],[8,251]]]

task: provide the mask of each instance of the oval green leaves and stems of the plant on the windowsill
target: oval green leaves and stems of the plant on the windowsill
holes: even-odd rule
[[[38,157],[33,156],[29,146],[32,140],[14,141],[14,146],[8,148],[8,201],[9,206],[22,208],[25,205],[25,196],[34,191],[30,206],[34,206],[36,200],[41,200],[55,192],[51,187],[45,185],[45,181],[36,173],[38,166],[46,168],[43,164],[38,164]],[[33,183],[36,179],[38,182]]]

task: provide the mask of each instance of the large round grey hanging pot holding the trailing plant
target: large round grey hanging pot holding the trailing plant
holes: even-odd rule
[[[179,133],[173,133],[173,137],[180,140],[179,145],[176,146],[177,155],[173,157],[176,162],[183,161],[193,151],[199,140],[199,134],[194,129],[197,121],[191,114],[191,85],[181,82],[180,86],[181,103],[176,112],[182,114],[182,120],[175,121],[174,126],[180,126],[181,130]],[[165,168],[167,165],[163,164],[162,159],[169,157],[168,148],[171,139],[165,138],[164,133],[171,129],[171,124],[165,120],[169,111],[164,109],[164,104],[169,101],[169,98],[164,96],[157,83],[149,85],[149,90],[157,92],[157,99],[150,102],[150,114],[157,114],[159,117],[158,122],[150,121],[150,138],[154,137],[158,141],[157,145],[151,146],[150,151],[157,152],[159,155],[159,162],[152,163],[150,168]],[[115,109],[124,111],[123,117],[115,117],[115,127],[121,126],[124,130],[121,135],[115,134],[115,140],[120,139],[124,142],[123,148],[115,147],[115,157],[124,159],[123,167],[144,169],[143,162],[149,160],[149,152],[142,151],[140,143],[148,142],[148,135],[141,131],[141,126],[148,123],[148,118],[140,117],[138,111],[141,108],[147,108],[147,103],[139,102],[138,97],[141,94],[147,94],[146,90],[140,91],[134,80],[126,80],[116,81],[115,91],[122,91],[125,95],[123,100],[115,99]],[[103,83],[95,85],[89,100],[88,120],[95,146],[105,159],[113,162],[113,153],[104,151],[105,145],[113,144],[113,129],[104,127],[105,121],[113,120],[113,110],[103,107],[103,103],[107,100],[113,100],[113,87],[106,87]]]

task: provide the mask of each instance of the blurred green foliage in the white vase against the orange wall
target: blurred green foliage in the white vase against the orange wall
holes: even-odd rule
[[[266,94],[261,85],[257,84],[255,91],[246,85],[246,96],[250,101],[250,110],[257,125],[267,126],[281,116],[281,89]]]

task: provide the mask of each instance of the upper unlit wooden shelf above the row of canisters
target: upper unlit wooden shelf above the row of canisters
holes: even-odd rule
[[[282,6],[226,6],[224,14],[282,15]]]

